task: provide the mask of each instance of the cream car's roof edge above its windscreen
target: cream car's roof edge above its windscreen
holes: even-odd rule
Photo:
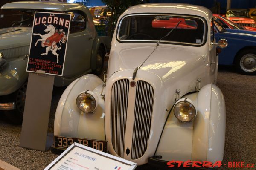
[[[135,13],[189,14],[210,20],[212,12],[203,7],[185,3],[146,3],[128,8],[122,15]]]

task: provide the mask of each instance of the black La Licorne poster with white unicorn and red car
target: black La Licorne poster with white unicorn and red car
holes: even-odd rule
[[[27,72],[63,75],[70,14],[35,12]]]

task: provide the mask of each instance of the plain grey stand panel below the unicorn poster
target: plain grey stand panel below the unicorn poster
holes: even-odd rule
[[[53,135],[47,136],[54,76],[45,71],[29,73],[20,135],[20,147],[49,150]]]

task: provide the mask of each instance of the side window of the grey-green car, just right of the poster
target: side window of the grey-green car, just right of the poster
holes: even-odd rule
[[[82,32],[86,29],[87,16],[81,11],[70,11],[71,23],[70,23],[70,33]]]

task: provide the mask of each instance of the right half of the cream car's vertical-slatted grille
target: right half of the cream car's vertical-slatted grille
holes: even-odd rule
[[[153,102],[154,90],[152,86],[145,81],[138,81],[134,109],[131,159],[140,158],[147,150]]]

